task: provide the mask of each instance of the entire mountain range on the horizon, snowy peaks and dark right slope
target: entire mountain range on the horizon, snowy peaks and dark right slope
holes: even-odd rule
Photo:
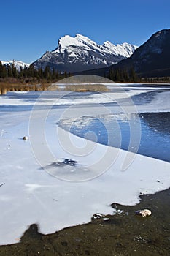
[[[22,61],[1,61],[2,64],[14,64],[17,69],[28,67]],[[131,68],[143,78],[170,77],[170,29],[152,34],[139,48],[123,43],[113,45],[104,42],[98,45],[88,37],[77,34],[65,36],[58,41],[58,47],[46,52],[33,63],[36,69],[46,66],[58,72],[71,72],[74,75],[101,75],[107,77],[110,70]]]

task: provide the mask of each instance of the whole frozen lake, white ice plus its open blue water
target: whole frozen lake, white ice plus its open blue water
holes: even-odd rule
[[[109,88],[0,97],[0,244],[32,223],[53,233],[170,187],[169,86]],[[63,158],[77,166],[57,167]]]

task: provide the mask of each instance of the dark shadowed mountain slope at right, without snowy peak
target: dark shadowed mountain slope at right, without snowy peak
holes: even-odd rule
[[[112,69],[130,69],[142,76],[170,76],[170,29],[163,29],[136,49],[134,54],[112,66]]]

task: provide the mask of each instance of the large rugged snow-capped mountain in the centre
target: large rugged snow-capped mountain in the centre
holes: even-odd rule
[[[136,48],[135,45],[127,42],[113,45],[112,42],[107,41],[103,45],[98,45],[81,34],[77,34],[76,37],[66,35],[59,39],[55,50],[47,51],[36,60],[34,67],[44,69],[45,66],[49,66],[61,72],[79,72],[108,67],[130,57]]]

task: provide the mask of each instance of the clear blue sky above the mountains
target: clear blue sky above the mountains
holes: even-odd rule
[[[156,31],[170,29],[169,10],[169,0],[1,1],[0,60],[30,63],[66,34],[142,45]]]

